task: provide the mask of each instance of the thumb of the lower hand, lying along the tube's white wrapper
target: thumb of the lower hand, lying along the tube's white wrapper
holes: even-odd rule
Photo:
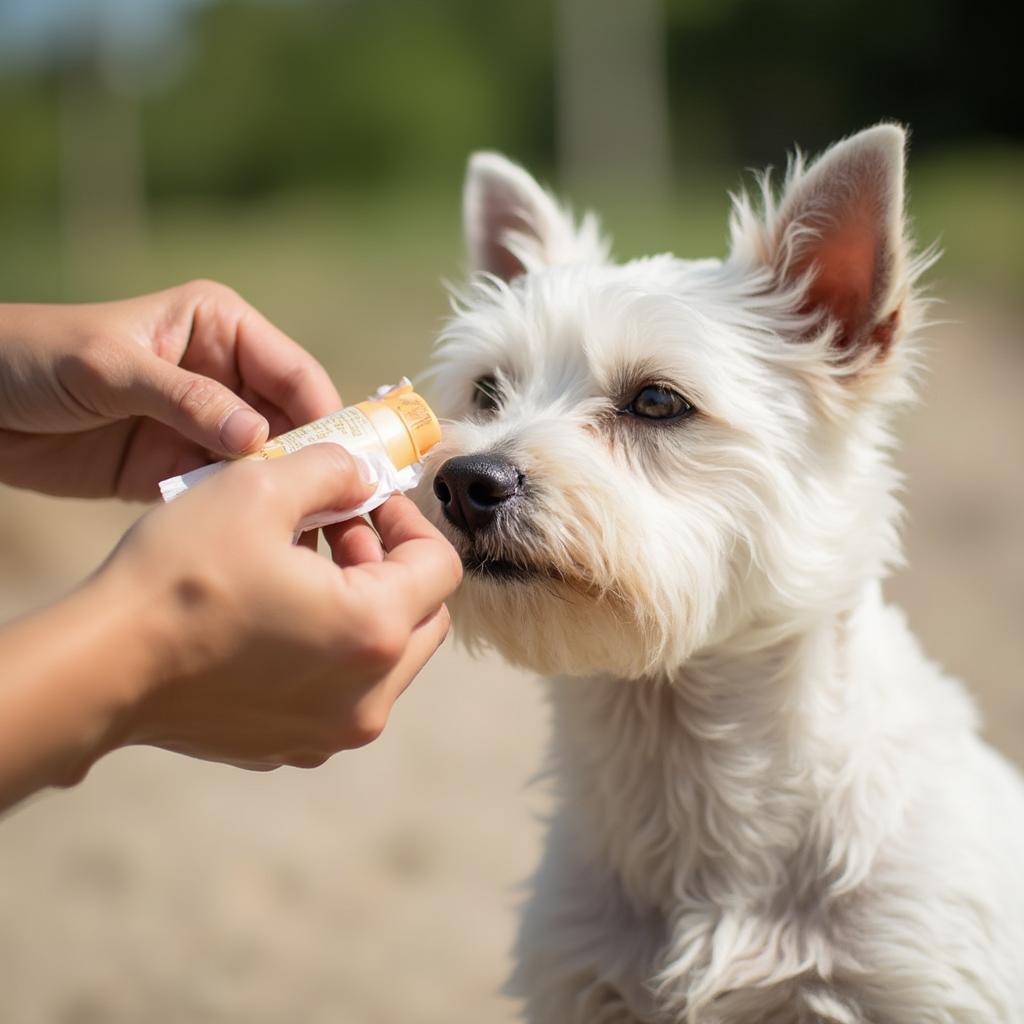
[[[272,459],[262,468],[273,481],[274,494],[281,495],[290,531],[316,512],[355,508],[373,494],[377,482],[367,463],[330,441]]]

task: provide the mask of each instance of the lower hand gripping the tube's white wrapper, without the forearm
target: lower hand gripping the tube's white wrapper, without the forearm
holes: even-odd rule
[[[241,462],[144,516],[89,585],[129,610],[122,662],[144,685],[98,740],[244,768],[311,767],[362,745],[449,629],[462,566],[406,498],[335,530],[334,561],[292,544],[304,516],[370,486],[343,449]],[[378,539],[379,535],[379,539]],[[133,645],[133,646],[132,646]]]

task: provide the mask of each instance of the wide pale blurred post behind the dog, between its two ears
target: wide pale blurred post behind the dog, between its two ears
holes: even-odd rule
[[[563,180],[653,198],[672,177],[665,0],[559,0]]]

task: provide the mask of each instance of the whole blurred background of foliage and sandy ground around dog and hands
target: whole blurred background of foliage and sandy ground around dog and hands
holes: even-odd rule
[[[882,119],[945,256],[889,584],[1024,759],[1024,127],[962,0],[0,0],[0,301],[210,276],[346,399],[415,374],[464,272],[467,155],[722,255],[727,190]],[[140,508],[0,488],[0,621]],[[446,645],[378,743],[269,776],[121,752],[0,821],[4,1024],[489,1024],[545,797],[539,688]]]

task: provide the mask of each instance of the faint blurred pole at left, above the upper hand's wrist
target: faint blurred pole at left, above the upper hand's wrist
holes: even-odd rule
[[[59,131],[66,290],[82,297],[103,287],[108,267],[144,252],[139,103],[112,92],[95,60],[73,61],[61,78]]]

